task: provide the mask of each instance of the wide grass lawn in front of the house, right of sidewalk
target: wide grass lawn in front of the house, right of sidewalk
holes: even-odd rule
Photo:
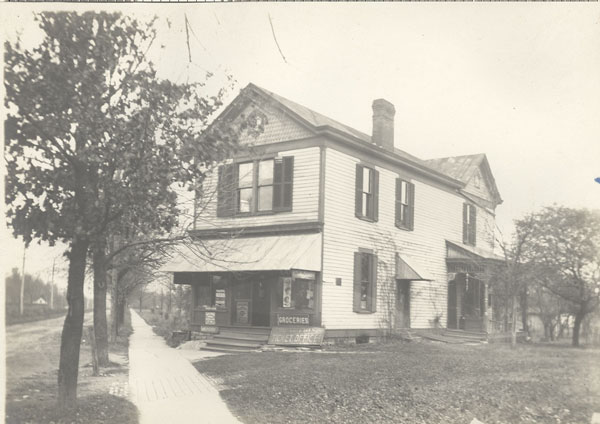
[[[600,351],[566,346],[391,342],[195,366],[244,423],[580,424],[600,412]]]

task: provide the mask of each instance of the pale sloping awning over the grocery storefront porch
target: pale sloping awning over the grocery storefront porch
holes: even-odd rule
[[[321,271],[321,234],[196,241],[176,248],[165,272]]]

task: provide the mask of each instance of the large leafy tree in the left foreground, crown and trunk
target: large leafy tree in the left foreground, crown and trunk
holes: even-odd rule
[[[156,77],[146,57],[154,21],[95,12],[44,12],[36,20],[39,46],[5,45],[6,203],[15,235],[69,246],[58,372],[58,401],[68,407],[77,396],[90,249],[101,256],[107,235],[124,223],[174,227],[176,183],[201,179],[235,130],[203,131],[224,88],[207,96],[203,84]],[[94,324],[106,337],[106,288],[97,289],[104,323],[99,314]]]

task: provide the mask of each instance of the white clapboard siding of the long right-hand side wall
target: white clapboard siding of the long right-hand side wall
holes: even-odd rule
[[[355,165],[352,157],[332,148],[326,151],[323,324],[326,328],[381,328],[388,322],[393,305],[396,251],[426,268],[434,281],[413,282],[411,326],[427,328],[436,318],[446,325],[447,271],[446,240],[462,240],[463,198],[418,179],[415,184],[414,231],[394,225],[395,180],[397,174],[379,171],[379,220],[360,220],[354,215]],[[370,248],[379,259],[377,312],[358,314],[352,310],[353,253]],[[342,285],[335,284],[336,278]]]

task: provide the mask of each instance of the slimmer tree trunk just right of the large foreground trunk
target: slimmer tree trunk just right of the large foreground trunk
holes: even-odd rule
[[[94,247],[94,334],[98,365],[108,366],[108,325],[106,322],[106,251],[104,245]]]

